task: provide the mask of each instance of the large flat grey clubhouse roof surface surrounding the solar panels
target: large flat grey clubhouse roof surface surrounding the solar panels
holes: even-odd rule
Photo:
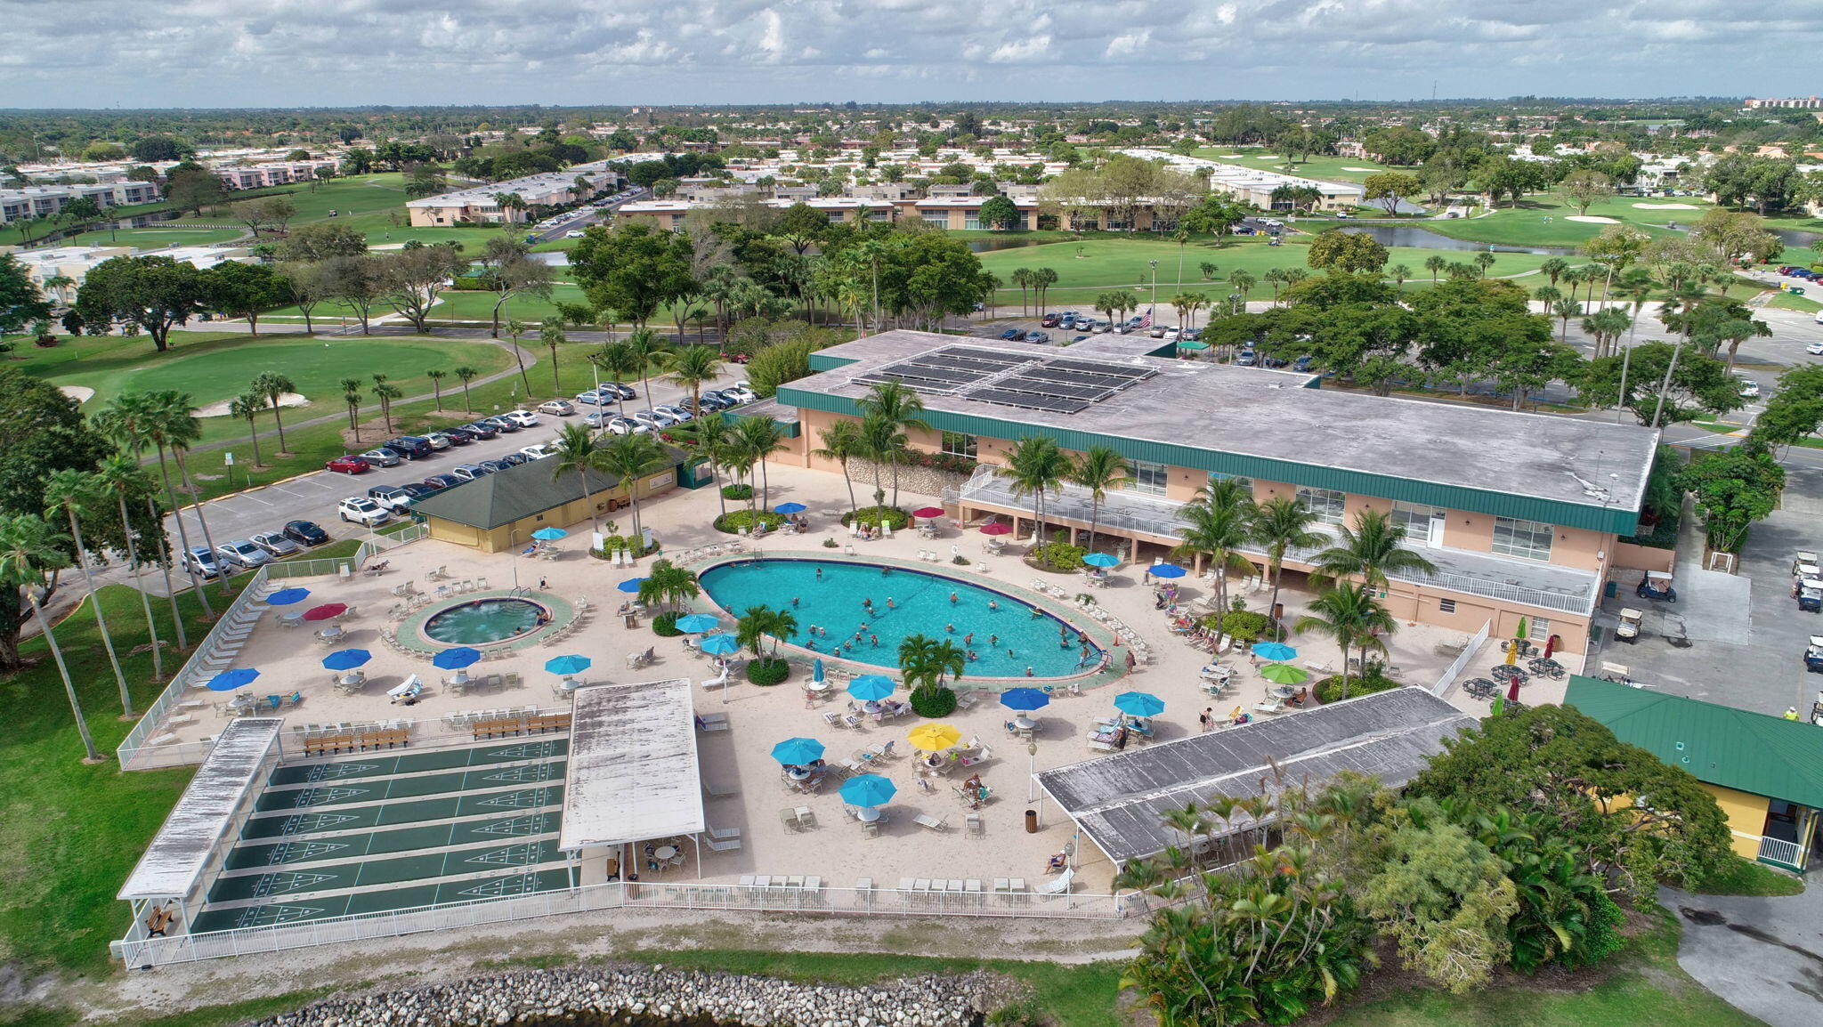
[[[1163,343],[1134,336],[1094,336],[1057,348],[891,330],[820,350],[824,359],[853,363],[786,389],[859,399],[868,385],[855,378],[957,345],[1127,363],[1158,374],[1076,414],[926,394],[928,410],[1517,493],[1591,511],[1641,509],[1659,441],[1657,431],[1635,425],[1305,389],[1307,374],[1150,358],[1145,350]]]

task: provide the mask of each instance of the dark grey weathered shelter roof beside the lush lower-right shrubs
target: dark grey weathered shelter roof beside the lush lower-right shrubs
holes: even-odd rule
[[[1276,795],[1283,781],[1320,784],[1344,770],[1400,786],[1475,719],[1422,688],[1395,688],[1238,728],[1190,735],[1039,772],[1037,783],[1088,837],[1125,863],[1189,845],[1165,814],[1220,795]],[[1247,825],[1232,825],[1236,830]]]

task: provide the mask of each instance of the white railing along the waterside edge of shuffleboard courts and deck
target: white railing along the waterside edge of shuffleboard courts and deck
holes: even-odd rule
[[[283,952],[339,941],[461,930],[543,916],[603,908],[704,908],[727,912],[806,912],[846,916],[981,916],[1041,919],[1121,919],[1145,916],[1134,896],[1043,896],[1034,892],[912,892],[899,888],[786,888],[757,885],[607,883],[501,899],[474,899],[390,912],[312,919],[295,925],[237,927],[173,938],[128,936],[111,943],[128,967],[190,963],[224,956]]]

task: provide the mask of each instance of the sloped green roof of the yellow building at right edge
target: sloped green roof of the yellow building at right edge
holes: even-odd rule
[[[1823,728],[1571,675],[1564,706],[1697,781],[1823,810]]]

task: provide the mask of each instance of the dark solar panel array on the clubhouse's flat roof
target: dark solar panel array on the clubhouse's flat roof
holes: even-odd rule
[[[944,347],[860,374],[855,381],[875,385],[897,379],[935,396],[1074,414],[1154,374],[1147,367]]]

